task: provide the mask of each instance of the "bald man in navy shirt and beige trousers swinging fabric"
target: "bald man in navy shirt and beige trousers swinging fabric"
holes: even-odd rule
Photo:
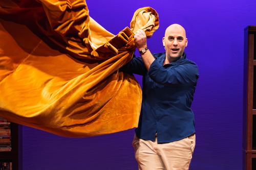
[[[165,53],[152,54],[139,30],[135,42],[141,57],[122,70],[143,76],[142,106],[133,140],[139,169],[187,170],[196,135],[191,103],[199,78],[195,62],[184,53],[185,29],[169,26],[162,39]]]

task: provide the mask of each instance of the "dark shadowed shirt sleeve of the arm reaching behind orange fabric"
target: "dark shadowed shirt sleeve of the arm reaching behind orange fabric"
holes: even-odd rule
[[[137,74],[144,76],[147,72],[144,62],[141,57],[133,56],[133,59],[120,68],[121,71],[129,74]]]

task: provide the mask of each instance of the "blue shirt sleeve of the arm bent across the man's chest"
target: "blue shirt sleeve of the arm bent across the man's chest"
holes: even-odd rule
[[[155,60],[148,75],[162,85],[195,85],[199,78],[198,67],[192,61],[185,61],[177,67],[167,67]]]

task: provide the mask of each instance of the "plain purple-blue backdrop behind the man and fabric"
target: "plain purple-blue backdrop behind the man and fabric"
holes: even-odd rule
[[[256,25],[255,0],[91,0],[87,4],[90,16],[113,34],[130,26],[138,8],[156,9],[160,28],[148,40],[153,53],[164,51],[161,39],[167,26],[184,26],[187,57],[200,69],[193,103],[197,144],[190,169],[242,169],[244,28]],[[22,128],[24,170],[137,169],[131,146],[134,130],[65,138]]]

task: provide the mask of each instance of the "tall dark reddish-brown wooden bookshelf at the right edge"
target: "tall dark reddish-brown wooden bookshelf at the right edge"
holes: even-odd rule
[[[256,26],[245,28],[243,170],[256,169]]]

